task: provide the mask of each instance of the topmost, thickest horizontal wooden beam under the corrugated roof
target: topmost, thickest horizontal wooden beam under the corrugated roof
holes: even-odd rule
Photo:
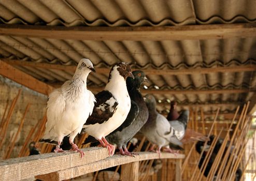
[[[0,35],[96,41],[226,39],[255,37],[256,23],[158,27],[65,27],[4,24],[0,25]]]

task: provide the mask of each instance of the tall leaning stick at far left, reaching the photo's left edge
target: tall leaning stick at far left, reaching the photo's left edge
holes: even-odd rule
[[[0,140],[0,147],[3,146],[4,144],[4,141],[5,141],[5,137],[6,137],[6,133],[7,133],[7,129],[8,129],[8,126],[9,126],[9,123],[10,123],[10,119],[11,119],[11,116],[12,116],[12,113],[16,107],[16,103],[20,97],[20,94],[21,94],[21,89],[19,89],[19,92],[17,94],[17,96],[12,100],[11,102],[11,106],[9,108],[9,111],[8,111],[8,114],[7,114],[7,117],[6,117],[6,120],[5,120],[5,123],[3,125],[3,129],[2,131],[0,132],[0,136],[1,136],[1,140]],[[2,134],[1,134],[2,133]]]

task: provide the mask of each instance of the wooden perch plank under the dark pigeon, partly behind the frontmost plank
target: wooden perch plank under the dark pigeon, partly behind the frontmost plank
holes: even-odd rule
[[[175,156],[174,154],[170,154],[170,153],[161,153],[160,158],[161,159],[163,158],[183,159],[184,155],[177,154]],[[84,164],[79,167],[73,167],[70,169],[57,171],[57,172],[49,173],[46,175],[38,175],[36,176],[36,178],[41,180],[65,180],[69,178],[78,177],[87,173],[95,172],[98,170],[115,167],[120,164],[127,164],[131,162],[151,160],[151,159],[159,159],[159,154],[151,153],[151,152],[138,152],[138,155],[135,155],[134,157],[114,155],[107,159],[90,163],[90,164]]]

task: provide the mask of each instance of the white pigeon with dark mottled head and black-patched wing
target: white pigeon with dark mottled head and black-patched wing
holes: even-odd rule
[[[93,113],[83,126],[85,132],[108,148],[110,156],[116,148],[105,137],[122,125],[131,109],[131,99],[126,88],[127,77],[134,79],[129,64],[119,62],[112,66],[108,83],[102,92],[95,95],[97,102]]]

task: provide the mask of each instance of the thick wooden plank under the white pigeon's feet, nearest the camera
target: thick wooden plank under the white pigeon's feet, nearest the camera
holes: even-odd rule
[[[80,158],[79,153],[67,151],[66,153],[50,153],[3,160],[0,162],[0,180],[31,178],[35,175],[70,169],[108,157],[107,148],[91,147],[82,150],[85,153],[83,158]]]

